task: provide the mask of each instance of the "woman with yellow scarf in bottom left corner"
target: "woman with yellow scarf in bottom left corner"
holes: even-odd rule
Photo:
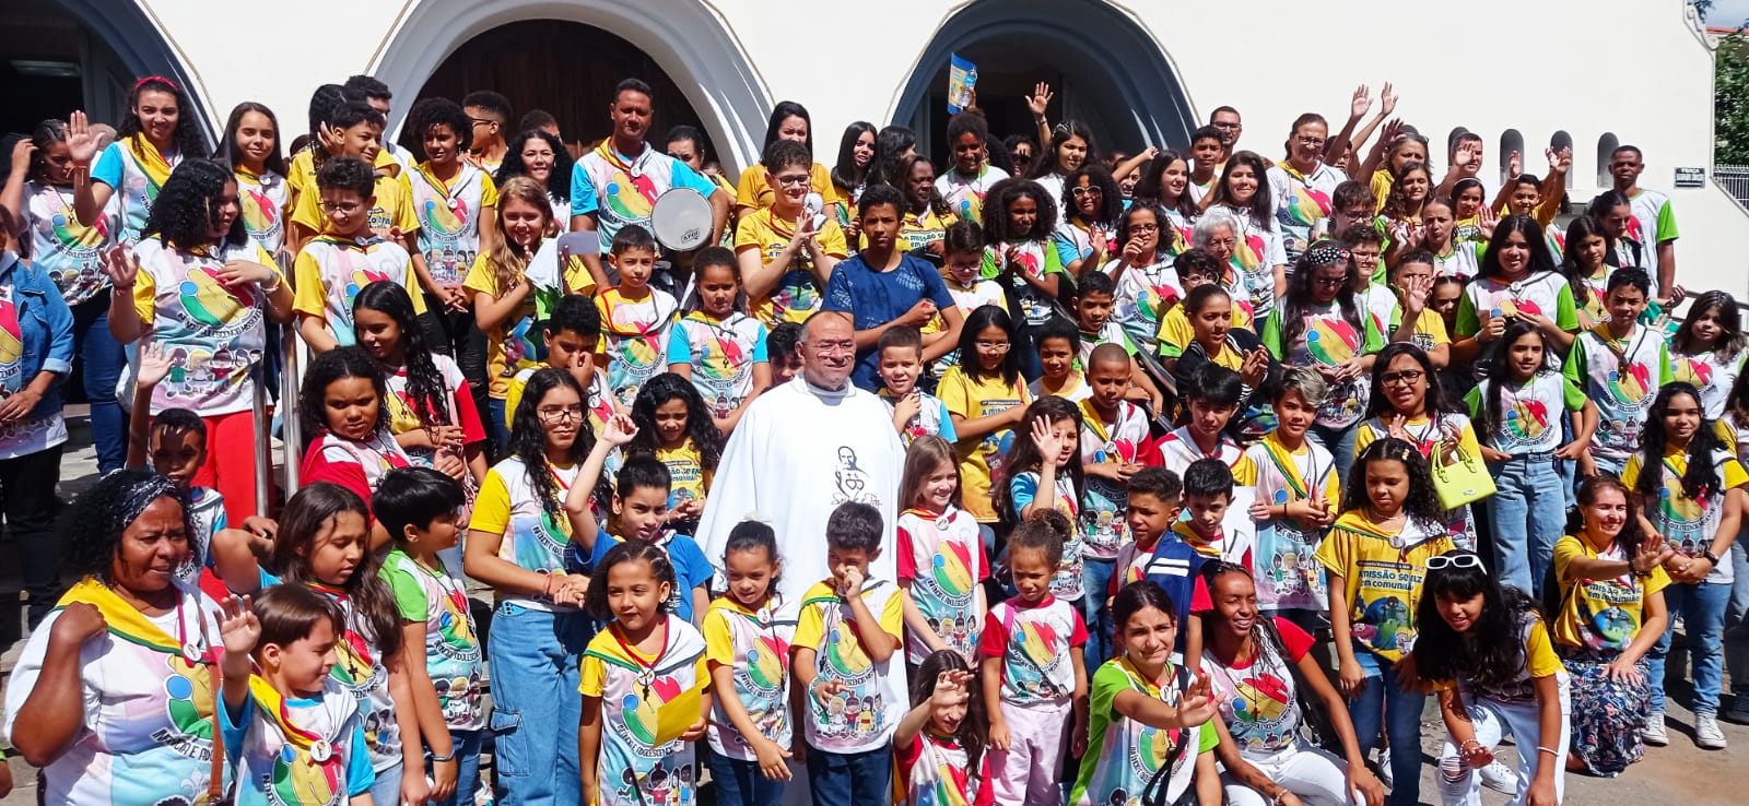
[[[219,605],[177,580],[194,551],[187,497],[117,470],[61,525],[84,579],[31,633],[5,696],[5,733],[42,768],[42,803],[199,803],[213,761]]]

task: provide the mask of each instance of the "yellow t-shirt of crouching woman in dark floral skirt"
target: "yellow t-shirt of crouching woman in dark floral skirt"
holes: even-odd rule
[[[1555,617],[1555,640],[1565,647],[1627,649],[1646,624],[1646,600],[1670,586],[1663,566],[1653,566],[1651,575],[1623,573],[1616,579],[1578,579],[1567,582],[1567,566],[1578,558],[1630,559],[1621,549],[1609,545],[1592,551],[1583,537],[1567,535],[1555,542],[1555,577],[1562,579],[1560,614]]]

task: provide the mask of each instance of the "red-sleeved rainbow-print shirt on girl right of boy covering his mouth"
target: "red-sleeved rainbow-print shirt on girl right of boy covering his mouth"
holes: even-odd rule
[[[990,579],[978,519],[953,505],[939,514],[908,509],[899,514],[897,533],[899,582],[911,582],[911,601],[923,621],[948,649],[978,668],[978,635],[983,628],[978,586]],[[904,650],[918,663],[930,652],[915,631],[906,633]]]

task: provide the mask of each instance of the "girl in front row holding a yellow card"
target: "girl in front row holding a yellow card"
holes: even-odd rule
[[[616,544],[589,580],[589,612],[607,621],[582,654],[582,803],[644,806],[694,803],[693,743],[710,724],[705,636],[668,612],[675,577],[668,552],[642,540]],[[668,710],[682,708],[680,722]],[[665,724],[684,724],[665,734]]]

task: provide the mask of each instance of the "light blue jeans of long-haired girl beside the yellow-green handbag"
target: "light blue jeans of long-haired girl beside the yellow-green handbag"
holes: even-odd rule
[[[1499,488],[1483,500],[1494,525],[1494,568],[1501,582],[1541,598],[1555,542],[1567,526],[1560,474],[1546,455],[1490,462],[1488,470]]]

